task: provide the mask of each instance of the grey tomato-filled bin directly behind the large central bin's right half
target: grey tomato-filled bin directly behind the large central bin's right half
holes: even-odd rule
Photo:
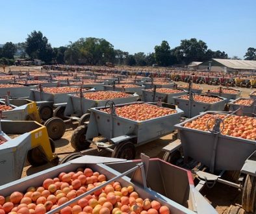
[[[179,95],[186,95],[188,91],[183,89],[172,89],[172,88],[153,88],[142,90],[142,101],[145,102],[156,102],[159,99],[162,102],[169,104],[175,104],[173,97]]]

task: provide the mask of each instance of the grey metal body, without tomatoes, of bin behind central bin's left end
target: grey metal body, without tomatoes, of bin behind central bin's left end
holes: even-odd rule
[[[84,93],[93,93],[94,91],[86,91]],[[113,91],[111,91],[113,92]],[[84,113],[88,113],[88,110],[97,106],[105,106],[108,101],[114,101],[116,104],[122,104],[127,102],[134,102],[139,98],[138,95],[131,95],[131,97],[123,97],[117,99],[109,99],[105,101],[94,101],[86,99],[85,97],[79,97],[77,95],[68,95],[68,102],[65,108],[64,115],[69,116],[77,114],[79,116]]]

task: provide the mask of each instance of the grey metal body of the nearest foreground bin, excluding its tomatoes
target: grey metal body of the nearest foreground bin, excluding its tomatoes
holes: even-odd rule
[[[101,163],[102,161],[102,163]],[[104,163],[114,163],[116,165],[106,165]],[[6,185],[0,186],[1,195],[7,196],[14,191],[25,192],[28,187],[41,186],[46,178],[55,178],[60,172],[75,171],[78,167],[89,167],[93,171],[100,174],[105,174],[107,180],[120,175],[119,169],[116,166],[120,164],[123,169],[131,169],[138,163],[138,161],[123,161],[113,158],[83,156],[68,163],[46,169],[44,171],[32,174],[25,178],[10,182]],[[162,180],[155,182],[153,187],[142,187],[134,184],[129,176],[117,178],[116,182],[120,182],[122,186],[132,185],[141,198],[149,198],[150,200],[157,200],[162,206],[168,206],[170,212],[173,214],[205,214],[217,213],[214,208],[205,200],[205,198],[194,187],[191,172],[170,165],[159,159],[149,160],[148,176],[146,180],[152,182],[157,171],[161,173]],[[150,177],[149,177],[150,176]],[[172,182],[169,182],[171,179]],[[168,181],[168,182],[167,182]],[[163,183],[167,182],[167,183]],[[150,183],[151,184],[151,183]],[[165,187],[165,189],[163,189]],[[179,192],[178,192],[179,191]]]

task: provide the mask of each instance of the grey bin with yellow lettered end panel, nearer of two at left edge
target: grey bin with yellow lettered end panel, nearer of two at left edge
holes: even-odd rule
[[[58,160],[46,127],[36,121],[0,121],[0,185],[21,177],[27,161],[38,166]],[[0,191],[1,195],[1,191]]]

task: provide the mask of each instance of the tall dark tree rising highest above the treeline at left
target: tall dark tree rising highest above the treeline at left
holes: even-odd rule
[[[43,36],[41,31],[36,32],[36,30],[34,30],[28,35],[25,51],[32,60],[39,59],[49,63],[53,58],[51,44],[48,43],[48,39]]]

